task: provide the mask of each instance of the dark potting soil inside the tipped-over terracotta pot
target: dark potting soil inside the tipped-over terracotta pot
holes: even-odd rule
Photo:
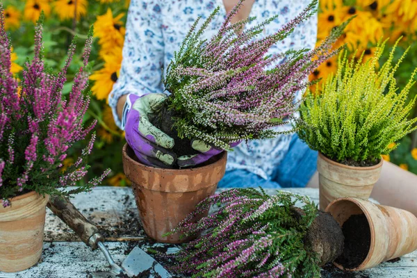
[[[343,223],[342,230],[345,247],[336,263],[343,265],[343,268],[357,268],[366,259],[370,248],[370,228],[366,215],[350,216]]]

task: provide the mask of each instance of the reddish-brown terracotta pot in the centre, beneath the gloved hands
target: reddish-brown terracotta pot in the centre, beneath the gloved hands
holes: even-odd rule
[[[192,169],[163,169],[139,163],[128,145],[123,147],[123,168],[132,181],[140,220],[146,234],[163,243],[183,243],[179,234],[164,237],[195,206],[213,195],[226,170],[227,153],[222,152],[213,162]],[[201,217],[206,216],[201,215]]]

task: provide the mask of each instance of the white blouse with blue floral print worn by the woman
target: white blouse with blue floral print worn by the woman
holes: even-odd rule
[[[250,16],[256,20],[247,24],[250,28],[268,17],[279,15],[265,26],[262,35],[275,33],[283,24],[293,19],[311,0],[256,0]],[[197,17],[203,19],[220,6],[220,15],[206,29],[203,38],[211,38],[220,28],[226,11],[222,0],[132,0],[126,22],[126,38],[120,76],[113,86],[108,102],[118,126],[117,100],[125,94],[144,95],[163,92],[163,71],[185,38]],[[313,48],[316,43],[317,17],[297,26],[294,33],[270,49],[270,54],[282,53],[289,48]],[[278,130],[291,129],[291,124]],[[271,140],[252,140],[242,143],[229,152],[227,170],[243,169],[270,179],[275,167],[282,161],[291,141],[291,135],[280,135]]]

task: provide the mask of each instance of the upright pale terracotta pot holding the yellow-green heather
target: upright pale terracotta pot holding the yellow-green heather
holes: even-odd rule
[[[320,209],[324,210],[334,199],[355,197],[368,199],[381,174],[383,159],[370,167],[352,167],[337,163],[318,154],[317,170]]]

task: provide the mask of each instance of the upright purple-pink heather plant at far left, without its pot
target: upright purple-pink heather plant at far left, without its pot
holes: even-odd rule
[[[101,182],[109,170],[85,185],[74,186],[87,173],[85,157],[90,154],[95,140],[92,135],[82,155],[65,171],[63,160],[68,149],[83,140],[95,122],[83,126],[83,117],[90,95],[83,91],[88,86],[88,58],[92,44],[92,29],[85,43],[83,66],[74,77],[67,99],[63,96],[68,67],[75,51],[76,38],[70,45],[63,69],[54,74],[43,62],[42,17],[35,28],[33,60],[26,63],[22,80],[10,72],[11,44],[4,28],[3,8],[0,6],[0,199],[8,206],[8,199],[34,190],[41,195],[71,195],[90,190]]]

